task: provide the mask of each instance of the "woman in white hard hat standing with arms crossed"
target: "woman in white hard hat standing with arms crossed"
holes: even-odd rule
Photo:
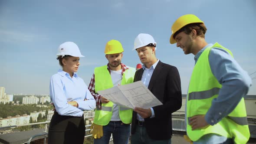
[[[48,144],[83,144],[83,111],[95,108],[95,99],[77,72],[81,55],[73,42],[62,43],[57,59],[62,70],[50,79],[50,97],[55,106],[48,133]]]

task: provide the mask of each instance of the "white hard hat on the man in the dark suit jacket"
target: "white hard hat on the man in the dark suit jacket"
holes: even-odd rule
[[[142,46],[147,46],[148,44],[153,43],[156,46],[154,38],[147,33],[140,33],[134,40],[134,48],[132,50],[138,49]],[[155,47],[155,49],[157,49]]]

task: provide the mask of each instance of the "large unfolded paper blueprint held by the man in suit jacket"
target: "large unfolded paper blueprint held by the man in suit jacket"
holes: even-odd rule
[[[137,107],[147,109],[163,105],[141,81],[98,91],[98,94],[126,108],[134,109]]]

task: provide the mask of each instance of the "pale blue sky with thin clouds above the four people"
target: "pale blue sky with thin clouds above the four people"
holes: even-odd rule
[[[157,42],[157,58],[179,70],[186,94],[194,55],[184,55],[169,38],[174,21],[189,13],[204,21],[208,43],[230,49],[251,74],[256,71],[255,6],[255,0],[0,0],[0,86],[8,94],[49,94],[49,78],[60,68],[57,48],[66,41],[85,56],[78,75],[88,85],[94,68],[108,62],[109,40],[122,43],[122,62],[135,67],[140,60],[131,51],[134,39],[148,33]],[[250,95],[256,95],[255,83]]]

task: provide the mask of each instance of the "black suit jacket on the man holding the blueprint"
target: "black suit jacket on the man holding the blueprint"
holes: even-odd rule
[[[134,82],[140,81],[143,69],[135,73]],[[153,107],[154,118],[145,118],[144,124],[151,139],[164,140],[171,138],[171,113],[181,108],[181,79],[175,66],[161,61],[156,65],[148,89],[163,105]],[[137,113],[133,111],[131,134],[136,131]]]

